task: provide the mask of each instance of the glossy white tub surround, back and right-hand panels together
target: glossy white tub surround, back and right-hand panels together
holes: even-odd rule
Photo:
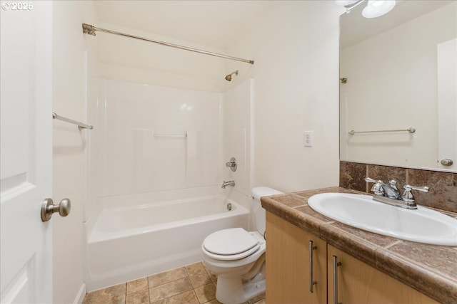
[[[99,79],[85,219],[105,197],[220,188],[224,179],[251,196],[252,88],[253,80],[214,93]],[[230,157],[236,172],[225,166]]]

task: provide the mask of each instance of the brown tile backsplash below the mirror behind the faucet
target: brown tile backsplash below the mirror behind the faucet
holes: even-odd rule
[[[405,184],[427,186],[428,193],[413,191],[418,205],[457,212],[457,173],[340,162],[340,187],[372,194],[365,177],[385,182],[395,179],[399,189]]]

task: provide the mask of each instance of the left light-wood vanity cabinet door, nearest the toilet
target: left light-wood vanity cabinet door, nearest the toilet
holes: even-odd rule
[[[310,291],[313,241],[313,293]],[[266,302],[326,303],[326,243],[266,212]]]

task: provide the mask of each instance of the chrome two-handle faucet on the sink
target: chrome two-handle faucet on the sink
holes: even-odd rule
[[[388,184],[381,181],[381,179],[376,180],[370,177],[366,177],[365,181],[374,183],[373,187],[371,187],[371,191],[374,193],[373,200],[405,209],[417,209],[411,190],[428,192],[428,187],[414,187],[406,184],[403,186],[404,191],[400,196],[395,179],[392,179]]]

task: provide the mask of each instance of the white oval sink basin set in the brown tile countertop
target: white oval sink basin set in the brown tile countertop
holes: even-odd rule
[[[308,205],[324,216],[358,229],[396,239],[457,246],[457,219],[418,206],[403,209],[363,194],[323,193],[311,196]]]

